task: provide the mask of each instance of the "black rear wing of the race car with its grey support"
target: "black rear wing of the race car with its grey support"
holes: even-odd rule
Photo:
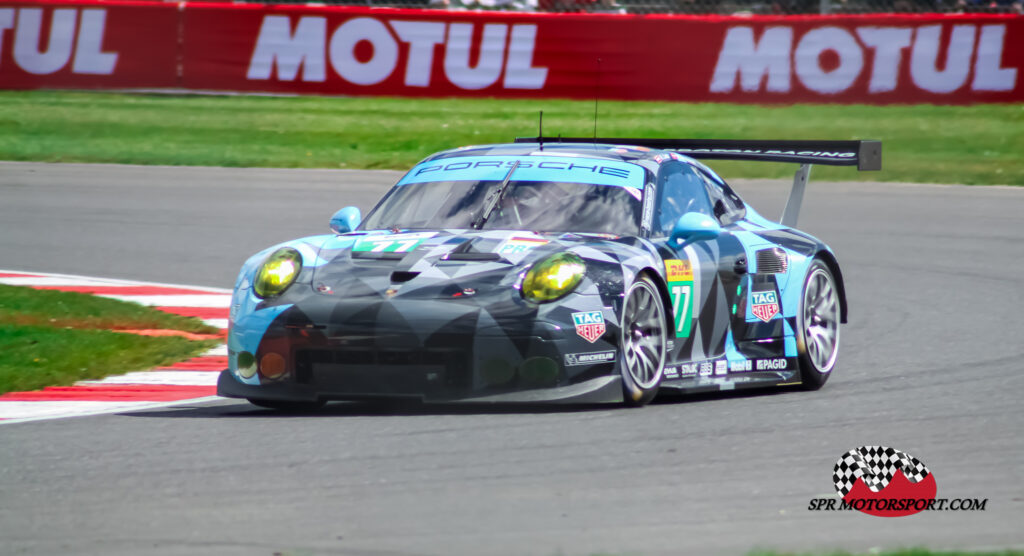
[[[779,222],[796,226],[811,165],[856,166],[857,170],[882,169],[882,141],[746,140],[746,139],[649,139],[623,137],[516,137],[515,142],[604,143],[673,151],[701,160],[788,162],[800,164],[793,189]]]

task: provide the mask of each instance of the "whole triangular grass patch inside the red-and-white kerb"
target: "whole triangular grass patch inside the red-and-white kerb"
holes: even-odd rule
[[[170,365],[219,343],[98,330],[105,328],[215,332],[133,303],[0,286],[0,394]]]

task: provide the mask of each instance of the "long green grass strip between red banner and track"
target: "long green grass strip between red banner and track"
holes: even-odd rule
[[[432,152],[593,133],[591,101],[0,92],[0,159],[404,169]],[[882,172],[818,179],[1024,185],[1024,104],[793,105],[602,101],[604,136],[881,139]],[[726,177],[793,165],[715,163]]]

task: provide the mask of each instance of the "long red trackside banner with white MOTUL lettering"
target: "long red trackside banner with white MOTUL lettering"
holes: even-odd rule
[[[0,0],[0,87],[729,102],[1024,101],[1024,17]]]

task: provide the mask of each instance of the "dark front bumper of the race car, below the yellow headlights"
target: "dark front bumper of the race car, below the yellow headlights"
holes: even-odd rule
[[[577,300],[601,310],[597,297]],[[272,308],[264,310],[273,310]],[[593,342],[565,307],[428,300],[306,300],[259,318],[240,318],[228,335],[229,369],[218,393],[276,400],[415,398],[423,401],[622,400],[617,328]],[[259,334],[258,343],[247,338]],[[263,373],[268,354],[281,376]],[[596,355],[595,355],[596,354]],[[240,374],[240,359],[258,372]],[[246,377],[245,375],[249,375]]]

